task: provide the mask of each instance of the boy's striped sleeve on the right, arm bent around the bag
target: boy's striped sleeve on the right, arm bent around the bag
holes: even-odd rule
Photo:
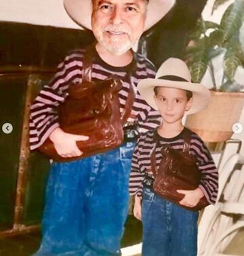
[[[209,150],[201,141],[195,141],[193,149],[196,151],[198,167],[201,171],[201,181],[199,188],[203,191],[209,204],[215,204],[218,196],[218,170]]]

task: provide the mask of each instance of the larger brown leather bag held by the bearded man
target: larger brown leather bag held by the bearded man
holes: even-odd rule
[[[69,162],[102,153],[123,143],[123,124],[134,103],[134,89],[130,84],[129,96],[121,115],[118,93],[122,88],[122,81],[115,76],[102,81],[91,81],[94,51],[95,47],[92,45],[85,53],[82,84],[69,86],[66,99],[58,109],[60,128],[64,132],[86,135],[89,139],[77,142],[83,154],[75,158],[60,157],[52,141],[47,139],[39,150],[56,162]]]

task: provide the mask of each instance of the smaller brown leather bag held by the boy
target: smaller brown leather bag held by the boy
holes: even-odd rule
[[[150,156],[152,173],[155,177],[153,190],[159,196],[182,206],[179,202],[184,198],[183,194],[178,194],[176,190],[193,190],[199,186],[201,172],[197,166],[197,158],[191,156],[190,132],[185,128],[183,132],[183,151],[178,151],[172,147],[161,149],[161,162],[159,169],[156,166],[155,149]],[[155,147],[156,148],[156,147]],[[201,198],[195,207],[182,206],[190,211],[199,211],[209,205],[205,196]]]

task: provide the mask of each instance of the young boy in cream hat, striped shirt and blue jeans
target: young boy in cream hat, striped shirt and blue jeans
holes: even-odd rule
[[[182,117],[185,112],[196,113],[209,103],[205,86],[191,82],[190,71],[178,58],[169,58],[159,68],[156,79],[143,79],[138,90],[153,108],[159,110],[163,122],[155,130],[142,134],[132,158],[129,192],[135,196],[134,215],[142,219],[142,256],[196,256],[197,211],[194,207],[205,196],[210,204],[218,194],[218,172],[211,155],[199,136],[190,130],[190,155],[197,158],[201,181],[195,190],[177,190],[184,194],[178,206],[152,190],[150,153],[156,145],[157,166],[163,161],[161,148],[165,145],[182,151]],[[144,184],[144,185],[143,185]],[[148,185],[149,184],[149,185]]]

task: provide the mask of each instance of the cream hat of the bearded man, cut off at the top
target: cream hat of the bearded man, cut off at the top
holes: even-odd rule
[[[159,22],[174,3],[175,0],[149,0],[144,31]],[[91,30],[91,0],[64,0],[64,7],[75,22]]]

